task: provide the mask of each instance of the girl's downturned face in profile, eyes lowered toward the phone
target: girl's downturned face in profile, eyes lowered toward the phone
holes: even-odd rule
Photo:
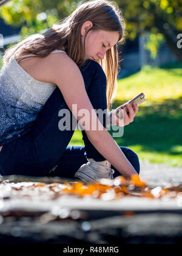
[[[119,40],[118,32],[106,30],[90,30],[86,37],[85,60],[104,59],[108,49],[112,48]],[[82,37],[84,45],[84,35]]]

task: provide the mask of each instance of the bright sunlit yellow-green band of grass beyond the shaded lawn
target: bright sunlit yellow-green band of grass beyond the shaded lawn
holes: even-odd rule
[[[118,81],[116,99],[124,100],[144,93],[147,104],[164,99],[177,99],[182,95],[182,69],[144,68],[133,76]]]

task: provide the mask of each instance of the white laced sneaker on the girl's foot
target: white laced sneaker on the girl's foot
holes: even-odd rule
[[[111,164],[105,160],[96,162],[92,158],[87,159],[88,163],[84,163],[75,173],[75,178],[79,178],[84,182],[98,182],[99,179],[113,179],[115,171],[110,168]]]

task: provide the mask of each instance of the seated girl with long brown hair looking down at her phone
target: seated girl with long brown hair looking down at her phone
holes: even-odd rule
[[[43,34],[7,49],[0,72],[2,176],[75,176],[95,182],[139,174],[138,156],[118,146],[106,119],[101,122],[92,111],[110,108],[118,74],[116,44],[124,40],[124,32],[115,2],[87,1]],[[137,105],[127,107],[124,126],[138,112]],[[84,129],[85,146],[68,146],[74,129],[59,129],[63,109],[70,113],[70,127],[72,118],[76,123],[81,119],[79,110],[87,109],[103,129]]]

